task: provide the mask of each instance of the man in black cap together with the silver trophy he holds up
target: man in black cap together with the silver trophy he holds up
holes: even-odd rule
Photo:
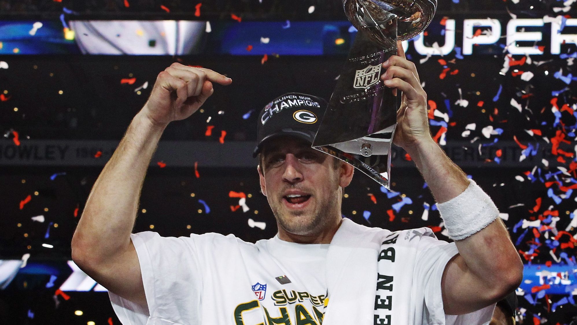
[[[519,285],[523,264],[499,211],[433,141],[426,93],[398,43],[428,25],[436,3],[343,5],[358,35],[328,104],[290,93],[259,115],[254,155],[278,225],[269,240],[131,234],[163,130],[198,110],[212,83],[231,83],[179,63],[159,74],[72,242],[74,262],[109,290],[123,324],[488,324]],[[355,167],[389,187],[390,158],[381,158],[391,142],[413,158],[454,242],[426,227],[392,232],[342,218]]]

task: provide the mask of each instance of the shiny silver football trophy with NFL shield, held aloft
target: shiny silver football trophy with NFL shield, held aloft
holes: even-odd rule
[[[400,107],[380,80],[381,63],[397,54],[397,40],[421,33],[432,20],[436,0],[343,0],[357,28],[313,148],[350,163],[391,189],[391,144]]]

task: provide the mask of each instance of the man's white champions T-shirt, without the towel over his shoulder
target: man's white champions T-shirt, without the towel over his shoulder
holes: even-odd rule
[[[132,234],[131,238],[140,262],[148,310],[109,292],[114,311],[124,325],[322,322],[329,244],[297,244],[282,241],[278,235],[252,244],[233,235],[207,233],[175,238],[160,237],[152,231]],[[415,299],[426,302],[427,310],[419,311],[424,315],[444,315],[439,304],[440,277],[447,261],[456,254],[456,248],[447,246],[454,244],[434,241],[423,241],[419,248],[426,251],[420,254],[428,266],[426,270],[407,270],[407,274],[422,274],[421,279],[413,281],[414,286],[420,286],[413,292],[422,293]],[[437,254],[444,256],[444,262],[431,265],[430,256]],[[471,325],[487,324],[492,308],[463,317],[447,316],[446,324],[465,324],[464,320]]]

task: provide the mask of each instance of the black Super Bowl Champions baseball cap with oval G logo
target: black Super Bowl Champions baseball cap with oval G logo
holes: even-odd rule
[[[265,141],[275,137],[295,136],[313,143],[326,109],[326,100],[299,92],[273,99],[258,114],[253,158],[263,149]]]

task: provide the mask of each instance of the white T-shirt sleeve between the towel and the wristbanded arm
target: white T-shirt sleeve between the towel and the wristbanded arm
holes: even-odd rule
[[[445,266],[458,254],[454,242],[423,236],[419,241],[415,277],[424,292],[422,324],[486,325],[491,321],[495,304],[464,315],[446,315],[443,307],[441,278]]]

